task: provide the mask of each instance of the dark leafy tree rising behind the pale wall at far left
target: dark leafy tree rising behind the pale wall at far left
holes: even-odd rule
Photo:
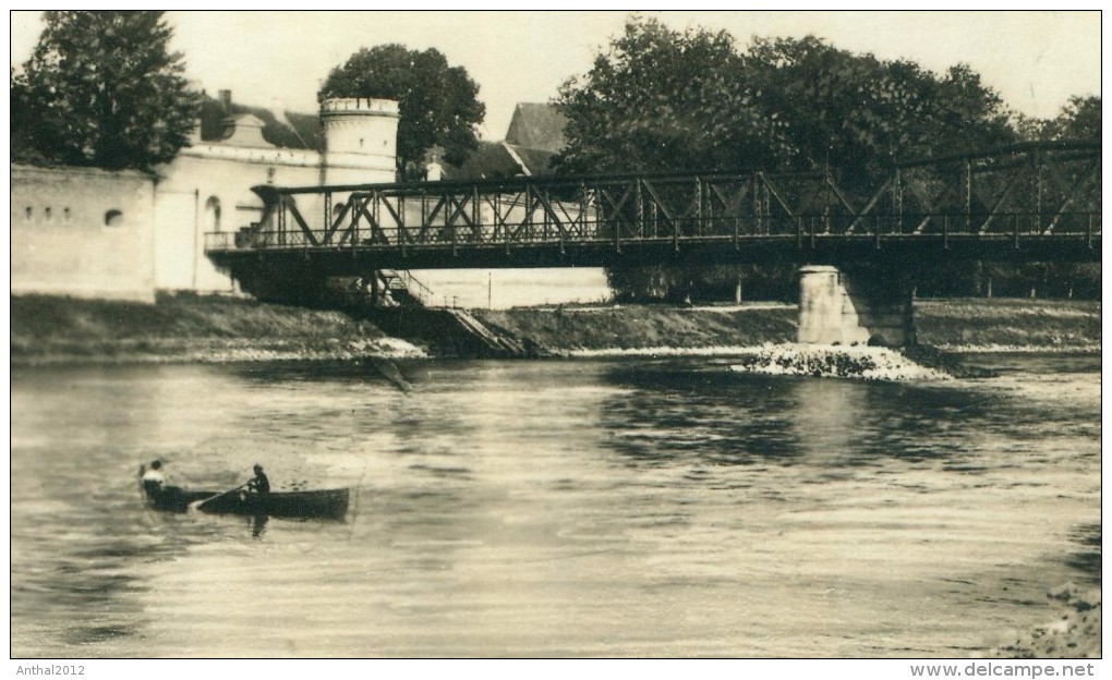
[[[149,169],[188,143],[199,98],[160,11],[48,11],[11,78],[18,160]],[[14,142],[14,140],[13,140]]]

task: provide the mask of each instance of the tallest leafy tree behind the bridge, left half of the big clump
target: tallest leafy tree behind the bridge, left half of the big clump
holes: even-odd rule
[[[631,18],[625,33],[566,81],[560,172],[756,169],[787,152],[784,124],[744,78],[725,31],[677,32]]]

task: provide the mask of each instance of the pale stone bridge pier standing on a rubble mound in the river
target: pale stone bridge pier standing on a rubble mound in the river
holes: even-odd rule
[[[810,344],[915,343],[912,288],[903,273],[856,272],[824,264],[800,269],[797,340]]]

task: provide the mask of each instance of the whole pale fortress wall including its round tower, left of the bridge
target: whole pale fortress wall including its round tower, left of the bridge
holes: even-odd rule
[[[205,239],[259,220],[252,187],[394,181],[397,102],[329,100],[321,116],[327,164],[315,150],[274,147],[261,121],[244,116],[230,137],[196,137],[156,174],[13,166],[12,293],[153,300],[155,290],[237,292],[205,257]],[[320,197],[298,197],[298,209],[311,227],[325,223]]]

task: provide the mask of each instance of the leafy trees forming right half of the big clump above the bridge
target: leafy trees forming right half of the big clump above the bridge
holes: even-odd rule
[[[770,92],[766,103],[793,146],[780,166],[827,168],[843,189],[867,191],[897,159],[1015,140],[1000,97],[964,64],[939,77],[814,37],[758,39],[747,57],[751,79]]]

